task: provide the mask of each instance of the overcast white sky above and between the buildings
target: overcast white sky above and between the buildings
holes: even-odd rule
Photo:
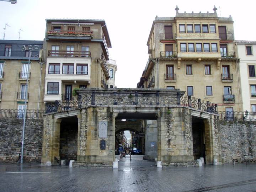
[[[256,40],[255,0],[17,0],[17,4],[0,1],[0,39],[43,40],[46,18],[104,19],[112,48],[110,58],[116,60],[117,87],[135,88],[148,59],[146,42],[155,16],[174,17],[179,12],[213,12],[234,21],[236,40]],[[219,9],[220,6],[220,9]],[[220,14],[221,12],[221,14]]]

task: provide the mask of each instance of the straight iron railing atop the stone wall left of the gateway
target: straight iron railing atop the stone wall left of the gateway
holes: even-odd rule
[[[1,109],[0,119],[23,119],[25,110]],[[45,110],[26,110],[26,119],[43,119]]]

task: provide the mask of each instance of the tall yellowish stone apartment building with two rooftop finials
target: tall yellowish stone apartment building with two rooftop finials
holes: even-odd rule
[[[242,110],[233,19],[213,13],[155,17],[148,38],[149,60],[138,88],[185,90],[218,104],[219,111]]]

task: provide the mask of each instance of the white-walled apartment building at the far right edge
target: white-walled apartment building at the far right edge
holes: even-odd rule
[[[256,41],[235,41],[239,62],[244,111],[256,112]]]

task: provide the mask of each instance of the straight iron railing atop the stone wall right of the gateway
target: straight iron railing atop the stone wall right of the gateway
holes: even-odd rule
[[[219,120],[224,121],[256,121],[256,112],[218,111]]]

